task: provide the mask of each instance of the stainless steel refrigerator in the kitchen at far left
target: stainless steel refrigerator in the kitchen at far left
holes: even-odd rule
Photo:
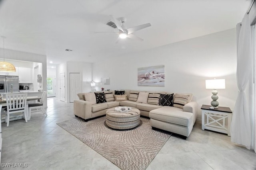
[[[0,76],[0,93],[19,92],[19,76]]]

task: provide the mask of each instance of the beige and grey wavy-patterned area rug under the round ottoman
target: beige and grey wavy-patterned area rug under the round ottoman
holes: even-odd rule
[[[138,127],[128,130],[111,129],[105,120],[76,118],[57,124],[123,170],[146,169],[171,136],[152,130],[149,119],[143,117]]]

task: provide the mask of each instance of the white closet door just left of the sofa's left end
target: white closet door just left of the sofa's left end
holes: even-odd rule
[[[80,73],[69,73],[69,102],[78,99],[76,94],[81,92]]]

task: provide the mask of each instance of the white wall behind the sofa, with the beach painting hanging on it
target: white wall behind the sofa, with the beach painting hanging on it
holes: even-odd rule
[[[189,31],[189,30],[188,30]],[[143,43],[143,42],[142,42]],[[165,87],[137,86],[139,67],[165,66]],[[226,79],[226,89],[218,90],[219,106],[234,109],[236,85],[236,29],[196,37],[139,53],[106,59],[93,64],[93,79],[110,77],[105,89],[132,89],[192,93],[198,102],[210,105],[211,89],[205,80]],[[200,118],[200,110],[198,110]]]

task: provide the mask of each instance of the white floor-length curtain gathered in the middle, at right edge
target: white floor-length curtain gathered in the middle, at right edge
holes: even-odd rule
[[[236,78],[239,89],[231,122],[231,141],[252,147],[252,129],[249,114],[249,104],[246,101],[245,88],[252,72],[252,37],[248,14],[244,15],[238,35]]]

